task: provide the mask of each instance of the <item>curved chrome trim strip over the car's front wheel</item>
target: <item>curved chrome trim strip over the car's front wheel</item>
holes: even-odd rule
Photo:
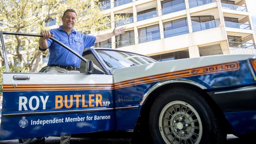
[[[139,103],[139,105],[143,105],[145,103],[145,101],[147,100],[148,96],[150,95],[150,93],[152,91],[154,91],[155,89],[157,89],[158,87],[161,87],[162,85],[166,85],[169,83],[188,83],[191,85],[195,85],[196,87],[199,87],[200,89],[207,89],[206,87],[204,87],[203,85],[196,83],[195,81],[191,81],[188,79],[171,79],[171,80],[167,80],[167,81],[160,81],[159,83],[155,84],[153,87],[151,87],[142,97],[141,102]]]

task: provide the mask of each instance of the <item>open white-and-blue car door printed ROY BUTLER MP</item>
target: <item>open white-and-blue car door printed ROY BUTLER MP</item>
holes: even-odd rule
[[[41,37],[0,32],[4,52],[3,34]],[[80,74],[9,73],[6,63],[0,140],[115,130],[112,75],[97,70],[94,74],[93,68],[88,68],[92,65],[85,66],[87,73]]]

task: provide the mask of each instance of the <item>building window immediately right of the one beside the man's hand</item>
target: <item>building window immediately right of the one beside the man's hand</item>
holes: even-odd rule
[[[138,29],[139,43],[155,41],[160,39],[159,25],[147,26],[145,28]]]

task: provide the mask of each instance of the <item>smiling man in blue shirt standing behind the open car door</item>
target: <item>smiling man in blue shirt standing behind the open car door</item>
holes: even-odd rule
[[[73,9],[67,9],[61,17],[62,26],[58,29],[52,29],[50,31],[41,31],[39,39],[39,50],[45,51],[49,48],[50,57],[48,66],[50,66],[46,72],[52,73],[80,73],[79,67],[81,59],[74,54],[50,40],[50,37],[54,37],[62,43],[69,46],[72,50],[82,55],[83,49],[94,46],[95,42],[101,42],[124,33],[125,28],[116,28],[111,33],[103,35],[92,36],[85,35],[73,29],[76,23],[76,11]],[[61,144],[69,144],[70,135],[61,135]]]

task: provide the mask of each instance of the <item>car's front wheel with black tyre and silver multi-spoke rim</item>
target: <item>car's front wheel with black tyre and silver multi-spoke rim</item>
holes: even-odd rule
[[[226,141],[226,133],[209,103],[202,95],[186,88],[170,89],[158,96],[150,110],[149,128],[155,144]]]

